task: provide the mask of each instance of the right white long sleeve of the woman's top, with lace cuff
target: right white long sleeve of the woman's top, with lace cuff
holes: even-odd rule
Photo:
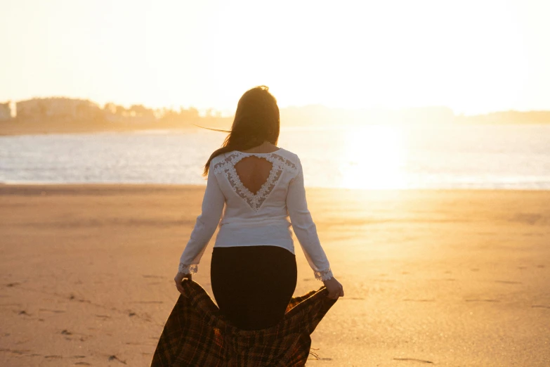
[[[322,249],[317,227],[313,223],[306,201],[306,188],[303,186],[303,170],[300,160],[297,161],[298,174],[289,183],[287,193],[287,208],[304,255],[318,281],[327,281],[332,278],[329,260]]]

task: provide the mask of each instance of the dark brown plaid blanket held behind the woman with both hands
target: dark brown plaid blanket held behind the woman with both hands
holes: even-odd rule
[[[180,295],[166,321],[152,367],[304,366],[310,334],[336,302],[321,287],[292,298],[277,325],[241,330],[224,318],[199,284],[183,279],[182,285],[186,296]]]

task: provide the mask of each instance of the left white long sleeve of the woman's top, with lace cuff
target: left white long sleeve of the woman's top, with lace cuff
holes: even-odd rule
[[[202,199],[202,213],[197,217],[190,239],[180,257],[179,273],[196,273],[210,239],[220,223],[225,197],[218,185],[214,169],[208,171],[207,188]]]

